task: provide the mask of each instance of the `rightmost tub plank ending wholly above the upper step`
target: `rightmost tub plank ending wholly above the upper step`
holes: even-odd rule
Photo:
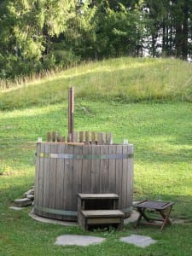
[[[109,146],[109,154],[116,154],[116,146]],[[116,192],[116,172],[115,172],[115,159],[110,159],[108,162],[108,191]]]

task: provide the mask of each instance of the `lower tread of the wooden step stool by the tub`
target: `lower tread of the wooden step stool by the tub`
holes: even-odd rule
[[[124,217],[124,213],[119,210],[87,210],[81,211],[85,218],[96,217]]]

